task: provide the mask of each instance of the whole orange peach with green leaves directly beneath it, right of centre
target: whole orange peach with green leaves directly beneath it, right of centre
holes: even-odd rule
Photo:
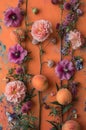
[[[72,94],[67,88],[62,88],[57,92],[56,99],[61,105],[67,105],[72,101]]]

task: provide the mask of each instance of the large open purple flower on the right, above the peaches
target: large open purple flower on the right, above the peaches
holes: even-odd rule
[[[73,76],[74,70],[75,69],[74,69],[73,63],[68,60],[60,61],[55,68],[56,75],[61,80],[64,80],[64,79],[69,80]]]

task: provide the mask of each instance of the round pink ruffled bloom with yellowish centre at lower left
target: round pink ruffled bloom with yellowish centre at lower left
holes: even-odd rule
[[[6,85],[5,96],[7,101],[17,104],[24,100],[26,88],[21,81],[12,81]]]

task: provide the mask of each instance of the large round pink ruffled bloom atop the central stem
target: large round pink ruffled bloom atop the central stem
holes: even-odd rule
[[[51,33],[52,25],[47,20],[37,20],[32,25],[31,35],[38,42],[45,41]]]

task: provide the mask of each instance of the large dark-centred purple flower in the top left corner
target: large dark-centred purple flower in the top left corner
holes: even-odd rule
[[[20,8],[8,8],[4,13],[4,23],[7,27],[18,27],[23,20]]]

